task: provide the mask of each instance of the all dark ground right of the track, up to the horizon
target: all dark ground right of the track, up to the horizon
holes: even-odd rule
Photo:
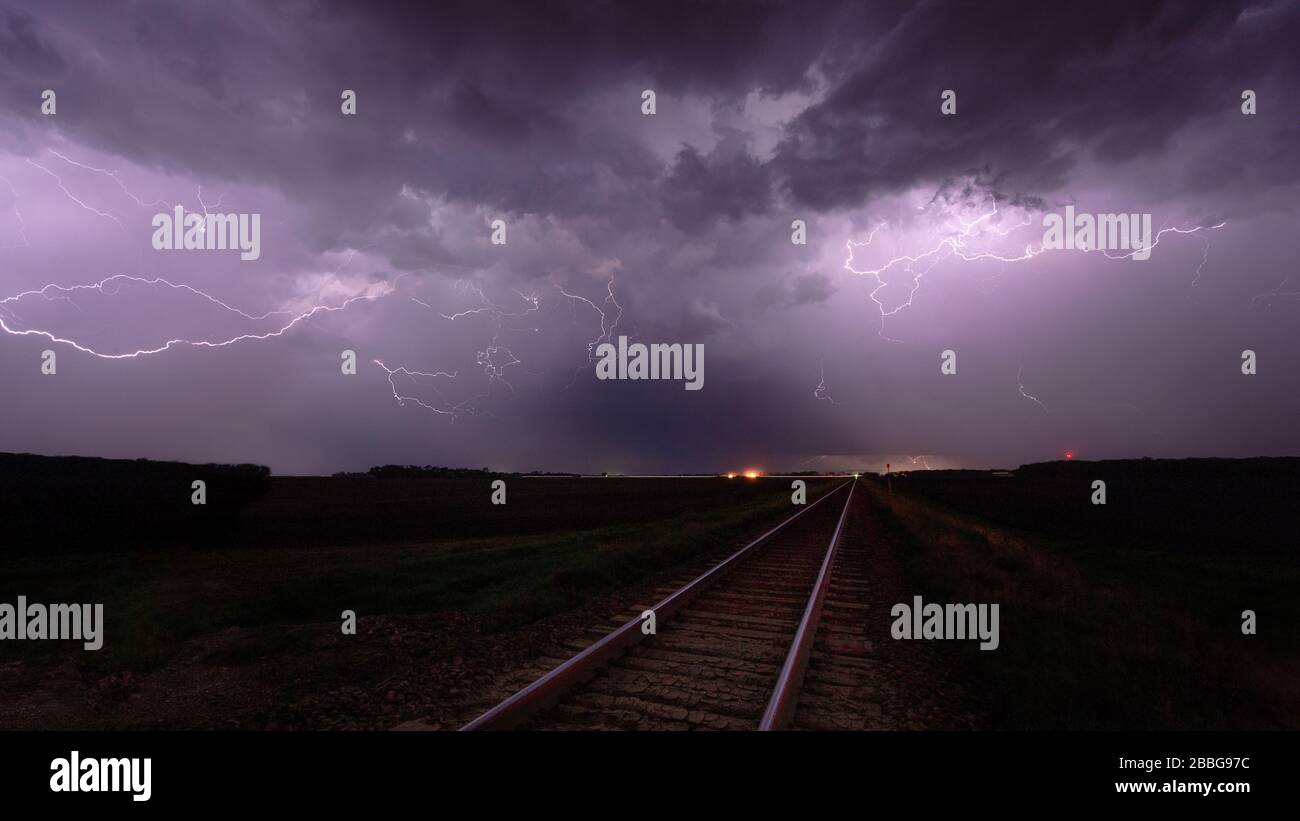
[[[1108,485],[1105,505],[1091,483]],[[1300,460],[1032,465],[874,482],[907,577],[996,601],[1002,644],[961,647],[1009,729],[1300,727]],[[1242,612],[1257,616],[1243,635]]]

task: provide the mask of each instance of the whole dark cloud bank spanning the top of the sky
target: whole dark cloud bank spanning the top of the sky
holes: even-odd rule
[[[920,4],[874,18],[857,5],[148,4],[126,21],[104,4],[60,5],[44,22],[5,16],[4,58],[26,81],[5,104],[34,123],[31,86],[57,79],[75,103],[61,122],[96,147],[322,204],[346,187],[338,229],[406,183],[563,216],[655,197],[679,229],[699,230],[762,213],[776,182],[816,209],[985,166],[1011,187],[1058,187],[1084,156],[1160,152],[1231,112],[1243,87],[1300,65],[1295,4]],[[112,48],[114,70],[68,69],[44,31],[61,26]],[[771,164],[688,147],[662,177],[644,147],[576,108],[625,83],[720,99],[788,91],[818,60],[833,86]],[[365,117],[337,116],[343,87]],[[958,91],[958,117],[939,114],[944,88]],[[416,142],[402,143],[406,130]],[[1283,181],[1300,173],[1294,138],[1279,130],[1261,148]],[[586,169],[602,166],[625,186],[592,201]]]

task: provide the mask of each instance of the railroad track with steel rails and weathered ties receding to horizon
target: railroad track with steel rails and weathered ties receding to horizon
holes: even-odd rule
[[[818,626],[827,600],[844,594],[832,578],[849,573],[840,543],[855,485],[835,487],[658,601],[655,635],[642,633],[638,613],[462,729],[790,726],[810,659],[822,676],[827,666]],[[842,637],[852,626],[837,629]]]

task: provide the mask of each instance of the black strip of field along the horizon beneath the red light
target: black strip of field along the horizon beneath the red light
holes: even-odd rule
[[[1092,504],[1092,483],[1106,504]],[[1300,459],[1139,459],[988,470],[913,470],[894,492],[1065,540],[1216,552],[1294,552]]]

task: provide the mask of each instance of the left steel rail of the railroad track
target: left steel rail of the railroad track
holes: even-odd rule
[[[836,485],[833,488],[819,496],[816,501],[803,507],[798,513],[790,516],[727,559],[723,559],[720,562],[696,577],[676,592],[670,594],[651,608],[655,612],[655,618],[662,620],[666,616],[676,613],[679,609],[685,607],[686,603],[716,583],[741,561],[767,544],[775,535],[785,530],[805,513],[840,492],[845,485],[853,485],[853,479]],[[849,496],[853,496],[852,487],[849,488]],[[842,522],[844,517],[841,516],[840,518]],[[636,644],[642,638],[641,617],[638,616],[606,634],[586,650],[581,651],[576,656],[572,656],[550,673],[546,673],[497,707],[493,707],[484,714],[478,716],[465,726],[460,727],[460,730],[510,730],[523,724],[537,712],[555,704],[560,696],[576,685],[580,685],[594,676],[602,665],[618,657],[623,653],[623,651]]]

